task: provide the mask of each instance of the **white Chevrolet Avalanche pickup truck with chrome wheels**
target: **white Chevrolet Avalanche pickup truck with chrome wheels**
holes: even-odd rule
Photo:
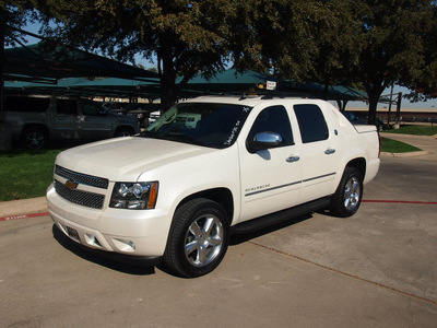
[[[139,136],[60,153],[48,209],[84,246],[198,277],[218,266],[232,233],[321,209],[353,215],[379,153],[375,127],[324,101],[199,97]]]

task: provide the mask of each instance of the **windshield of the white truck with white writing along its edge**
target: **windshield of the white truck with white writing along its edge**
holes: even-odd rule
[[[182,103],[164,113],[141,136],[222,149],[235,142],[250,110],[241,105]]]

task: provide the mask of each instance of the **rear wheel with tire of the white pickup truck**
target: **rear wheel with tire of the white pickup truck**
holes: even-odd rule
[[[346,167],[331,200],[331,212],[341,218],[352,216],[363,198],[363,177],[358,169]]]

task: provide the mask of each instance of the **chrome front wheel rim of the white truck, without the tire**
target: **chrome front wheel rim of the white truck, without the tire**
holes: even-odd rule
[[[223,226],[214,215],[203,215],[194,220],[185,238],[185,256],[194,267],[211,263],[223,245]]]

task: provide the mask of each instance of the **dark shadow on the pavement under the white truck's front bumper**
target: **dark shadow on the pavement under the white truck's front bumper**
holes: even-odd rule
[[[151,265],[141,258],[123,257],[118,254],[84,247],[71,241],[55,224],[52,225],[51,231],[55,239],[63,248],[70,250],[84,260],[128,274],[149,276],[155,273],[154,265]]]

